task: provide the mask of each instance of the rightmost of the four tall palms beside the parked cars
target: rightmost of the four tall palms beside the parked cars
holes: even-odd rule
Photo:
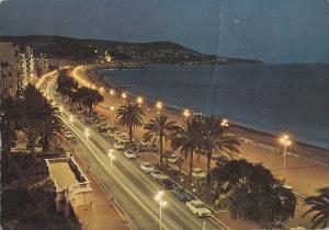
[[[207,184],[211,184],[211,163],[214,153],[220,153],[223,157],[231,157],[239,152],[237,147],[239,141],[228,136],[227,126],[222,126],[222,118],[211,116],[204,117],[201,123],[202,150],[207,158]]]

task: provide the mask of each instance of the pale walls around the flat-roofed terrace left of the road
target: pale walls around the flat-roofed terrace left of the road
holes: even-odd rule
[[[82,173],[79,164],[75,161],[72,157],[68,158],[55,158],[55,159],[45,159],[49,176],[54,181],[54,185],[56,188],[56,211],[61,212],[66,218],[69,217],[70,206],[75,209],[80,205],[91,205],[92,204],[92,187],[90,186],[90,182],[88,181],[87,176]],[[55,180],[56,172],[50,170],[50,164],[56,163],[68,163],[69,169],[76,176],[76,182],[72,183],[67,187],[59,186],[60,182]]]

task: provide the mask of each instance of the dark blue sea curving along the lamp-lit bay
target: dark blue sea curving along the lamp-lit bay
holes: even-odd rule
[[[329,149],[329,64],[102,70],[135,94]]]

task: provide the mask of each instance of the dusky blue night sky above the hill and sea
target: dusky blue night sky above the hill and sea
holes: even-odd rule
[[[1,0],[0,0],[1,2]],[[329,0],[8,0],[0,35],[172,41],[266,62],[329,62]]]

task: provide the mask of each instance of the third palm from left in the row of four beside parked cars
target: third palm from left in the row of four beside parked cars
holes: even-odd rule
[[[190,157],[190,176],[193,170],[193,156],[194,152],[201,148],[201,123],[197,119],[186,120],[182,128],[177,128],[175,134],[172,136],[172,149],[180,149],[180,152]]]

